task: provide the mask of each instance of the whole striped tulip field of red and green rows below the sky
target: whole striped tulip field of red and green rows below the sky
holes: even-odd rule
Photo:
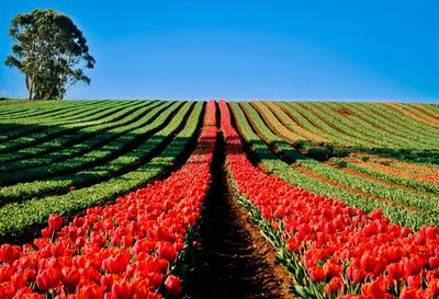
[[[439,298],[438,164],[437,104],[0,102],[0,299]]]

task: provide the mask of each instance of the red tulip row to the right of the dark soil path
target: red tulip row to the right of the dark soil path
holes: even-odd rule
[[[227,104],[219,102],[219,110],[233,183],[257,210],[264,234],[288,252],[285,264],[301,285],[297,296],[437,298],[439,228],[414,233],[380,210],[365,215],[264,174],[246,158]]]

